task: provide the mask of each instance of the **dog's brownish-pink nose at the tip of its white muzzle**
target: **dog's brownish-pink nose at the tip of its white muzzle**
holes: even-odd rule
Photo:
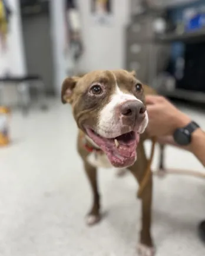
[[[143,121],[145,117],[146,106],[139,100],[127,100],[121,104],[120,113],[123,119],[132,122]]]

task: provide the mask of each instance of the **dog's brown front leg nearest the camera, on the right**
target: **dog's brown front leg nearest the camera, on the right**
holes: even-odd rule
[[[129,168],[131,173],[133,173],[135,179],[137,179],[140,184],[144,178],[144,174],[147,168],[147,159],[144,152],[144,146],[142,143],[138,145],[137,150],[138,160],[133,166]],[[140,232],[140,242],[138,244],[138,255],[140,256],[153,256],[154,247],[151,238],[151,204],[152,204],[152,189],[153,189],[153,178],[147,180],[146,187],[144,188],[143,194],[141,196],[142,200],[142,216],[141,216],[141,232]]]

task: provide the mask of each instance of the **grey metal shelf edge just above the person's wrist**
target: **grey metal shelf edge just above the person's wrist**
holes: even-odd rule
[[[167,96],[174,97],[176,99],[184,99],[189,101],[197,101],[198,103],[205,103],[205,93],[202,91],[190,91],[185,89],[175,89],[173,91],[159,89],[158,93]]]

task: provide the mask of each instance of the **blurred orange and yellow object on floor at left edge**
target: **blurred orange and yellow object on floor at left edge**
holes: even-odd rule
[[[9,114],[8,107],[0,106],[0,146],[8,145],[9,140]]]

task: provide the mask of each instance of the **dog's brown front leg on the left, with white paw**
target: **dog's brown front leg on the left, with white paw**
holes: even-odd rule
[[[84,162],[85,173],[91,185],[93,202],[92,207],[88,215],[86,216],[86,222],[88,225],[94,225],[100,221],[100,195],[97,185],[97,169],[91,166],[89,163]]]

